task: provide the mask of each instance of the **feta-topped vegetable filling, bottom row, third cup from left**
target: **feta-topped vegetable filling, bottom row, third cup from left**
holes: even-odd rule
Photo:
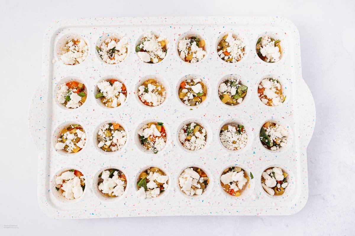
[[[158,197],[168,188],[168,175],[158,167],[151,167],[141,172],[137,182],[139,198]]]

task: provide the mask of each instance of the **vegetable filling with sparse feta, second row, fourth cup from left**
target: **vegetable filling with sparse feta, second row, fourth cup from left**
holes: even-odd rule
[[[180,83],[179,98],[188,106],[196,106],[206,100],[207,86],[200,78],[187,79]]]

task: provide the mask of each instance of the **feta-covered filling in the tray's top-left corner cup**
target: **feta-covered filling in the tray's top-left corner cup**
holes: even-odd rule
[[[70,39],[62,48],[60,59],[64,64],[79,64],[86,59],[88,51],[88,46],[83,39]]]

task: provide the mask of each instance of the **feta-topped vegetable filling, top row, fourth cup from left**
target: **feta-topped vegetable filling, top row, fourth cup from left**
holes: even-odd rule
[[[205,41],[198,36],[184,37],[179,40],[179,56],[185,62],[199,62],[207,54],[206,49],[204,48],[205,45]]]

